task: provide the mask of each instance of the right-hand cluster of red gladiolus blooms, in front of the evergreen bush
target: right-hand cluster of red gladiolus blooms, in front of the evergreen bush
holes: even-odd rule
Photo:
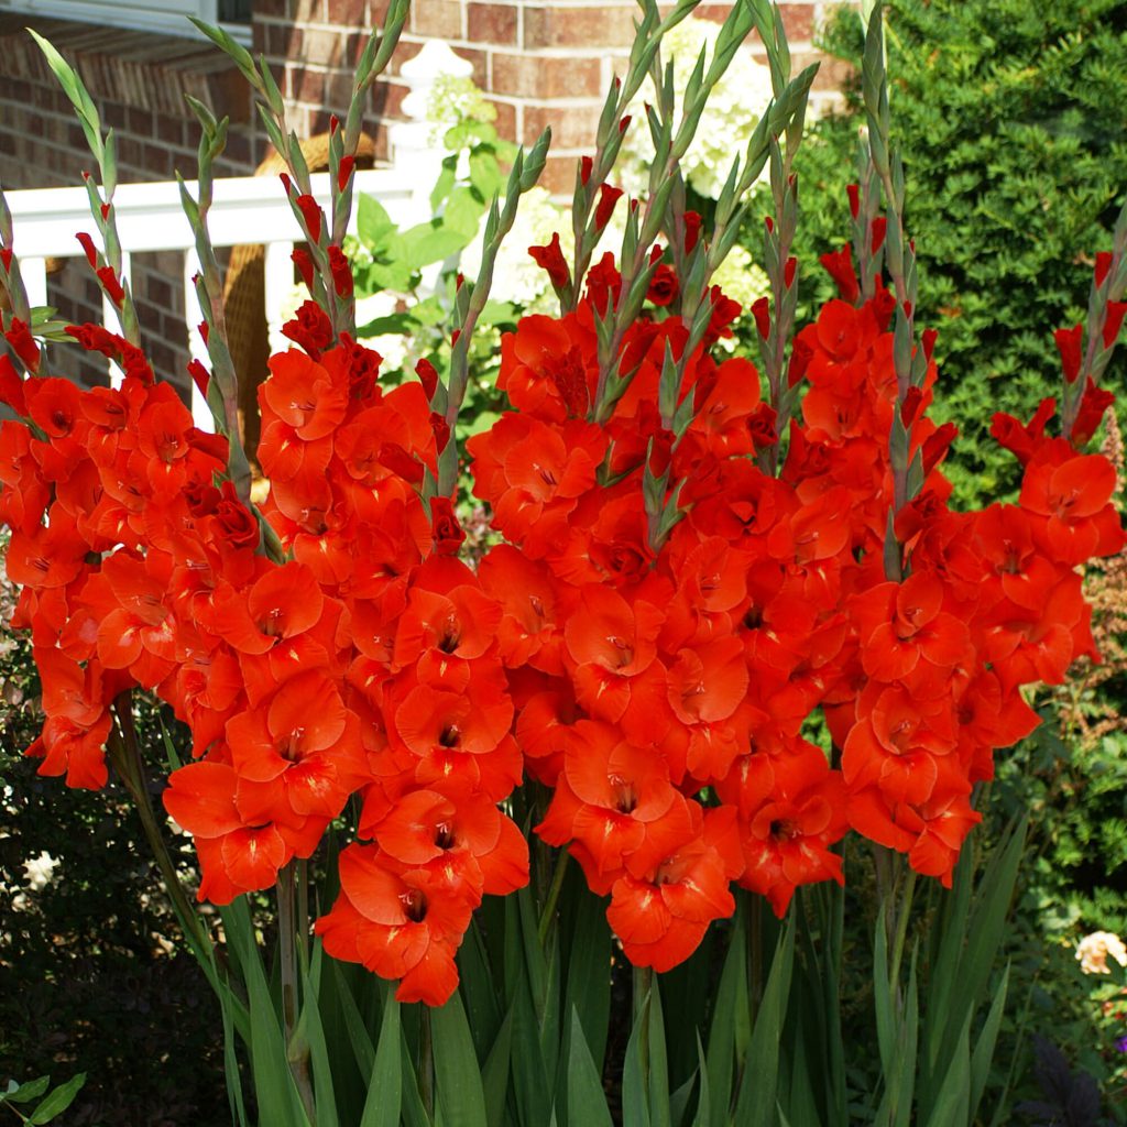
[[[621,367],[637,374],[596,425],[594,310],[618,276],[609,260],[592,274],[575,312],[504,340],[515,410],[469,443],[506,541],[480,575],[504,606],[515,731],[553,788],[536,832],[569,848],[627,955],[658,970],[731,913],[734,879],[780,915],[799,885],[842,881],[832,846],[849,828],[949,885],[993,749],[1038,722],[1021,686],[1094,655],[1076,565],[1122,543],[1110,464],[1045,435],[1051,403],[1028,427],[1000,417],[1026,464],[1019,504],[951,512],[938,465],[955,429],[924,415],[933,338],[924,385],[897,406],[885,290],[831,301],[799,334],[789,378],[808,390],[779,477],[755,456],[777,441],[757,372],[710,355],[733,312],[718,293],[684,369],[683,437],[657,407],[680,318],[630,329]],[[1095,393],[1076,440],[1106,406]],[[903,582],[886,576],[896,410],[924,471],[895,525]],[[656,552],[647,451],[684,513]],[[833,760],[804,737],[819,709]]]

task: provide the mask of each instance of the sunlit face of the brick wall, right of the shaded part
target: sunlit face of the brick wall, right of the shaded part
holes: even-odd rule
[[[362,29],[382,23],[385,7],[387,0],[258,0],[256,46],[284,71],[283,92],[299,132],[323,130],[326,107],[339,112],[347,105],[348,68],[363,45]],[[720,21],[729,7],[709,3],[698,15]],[[814,30],[829,7],[782,0],[796,68],[816,57]],[[611,78],[623,69],[637,15],[635,0],[414,0],[391,73],[375,94],[374,117],[399,116],[408,89],[399,68],[428,39],[443,39],[473,64],[474,81],[497,107],[504,135],[531,143],[552,125],[542,183],[568,193],[576,158],[593,147]],[[831,94],[840,80],[838,72],[824,68],[815,97]]]

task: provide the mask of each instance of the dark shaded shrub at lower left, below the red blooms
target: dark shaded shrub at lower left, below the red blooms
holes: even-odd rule
[[[23,755],[38,735],[29,639],[0,538],[0,1092],[85,1072],[66,1127],[221,1127],[222,1026],[161,888],[136,809],[116,781],[71,790]],[[147,757],[160,725],[137,709]],[[178,862],[187,840],[170,837]],[[35,1104],[20,1104],[30,1115]],[[16,1116],[9,1108],[6,1120]],[[37,1122],[41,1120],[36,1120]]]

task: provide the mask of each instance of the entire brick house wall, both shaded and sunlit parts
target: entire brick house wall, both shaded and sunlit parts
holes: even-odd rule
[[[328,127],[330,113],[349,99],[353,65],[369,29],[383,23],[388,0],[254,0],[252,46],[273,63],[300,136]],[[823,8],[811,0],[782,0],[796,65],[814,57],[811,37]],[[698,14],[721,20],[727,5]],[[443,39],[473,66],[473,77],[498,110],[503,135],[531,143],[549,123],[552,156],[542,183],[570,192],[576,158],[589,152],[602,99],[621,72],[633,36],[635,0],[414,0],[400,51],[372,95],[365,128],[378,157],[388,156],[381,123],[401,117],[408,91],[402,64],[428,39]],[[81,131],[66,99],[24,26],[48,36],[74,62],[118,136],[122,183],[170,179],[195,170],[198,127],[189,92],[232,118],[228,152],[218,174],[245,176],[266,152],[250,114],[246,85],[210,43],[119,28],[91,27],[27,15],[0,15],[0,184],[8,188],[80,183],[89,163]],[[836,88],[841,74],[825,71],[816,96]],[[17,243],[18,248],[18,243]],[[137,256],[134,294],[145,345],[158,371],[184,380],[187,362],[178,255]],[[100,317],[98,291],[82,259],[48,283],[63,317]],[[77,349],[54,350],[61,371],[76,374]],[[85,362],[85,378],[101,379]]]

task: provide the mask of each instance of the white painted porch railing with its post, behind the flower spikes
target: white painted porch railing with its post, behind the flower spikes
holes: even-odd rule
[[[429,43],[402,68],[411,87],[405,100],[410,119],[389,126],[392,152],[390,168],[356,174],[355,194],[374,195],[400,227],[431,218],[431,189],[444,153],[429,141],[426,122],[427,95],[440,74],[468,74],[472,68],[443,44]],[[312,177],[313,195],[328,213],[329,174]],[[195,198],[197,185],[189,181]],[[89,196],[85,187],[36,188],[7,193],[14,225],[14,246],[32,305],[47,304],[47,258],[83,255],[77,233],[95,233]],[[194,357],[206,360],[206,348],[196,326],[203,319],[193,276],[199,270],[195,236],[180,207],[175,181],[123,184],[114,193],[114,213],[122,245],[123,274],[131,277],[131,256],[171,250],[184,255],[185,343]],[[215,180],[208,213],[208,231],[215,247],[261,243],[266,248],[266,319],[270,349],[285,347],[282,309],[293,286],[291,255],[303,234],[285,192],[276,177],[247,176]],[[355,230],[355,207],[349,230]],[[117,311],[108,299],[103,316],[110,329],[117,327]],[[117,373],[110,365],[110,379]],[[193,388],[192,412],[197,426],[212,428],[207,405]]]

